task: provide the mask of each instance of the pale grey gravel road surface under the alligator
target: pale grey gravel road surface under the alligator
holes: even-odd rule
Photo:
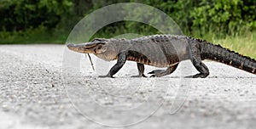
[[[116,78],[98,78],[89,61],[82,58],[81,71],[63,77],[64,48],[0,46],[1,129],[117,128],[111,125],[129,129],[253,129],[256,126],[256,76],[252,74],[206,61],[210,76],[185,80],[180,76],[190,75],[181,75],[182,71],[196,73],[189,61],[185,61],[171,76],[131,78],[137,74],[137,66],[128,62]],[[178,108],[183,98],[185,101]],[[171,108],[175,107],[175,100],[178,100],[177,112]],[[131,123],[135,124],[124,126]]]

